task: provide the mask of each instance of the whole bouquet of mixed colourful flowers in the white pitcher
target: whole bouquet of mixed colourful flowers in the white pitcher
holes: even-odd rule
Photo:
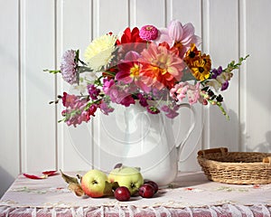
[[[90,42],[79,59],[79,50],[63,54],[59,71],[63,80],[79,94],[64,92],[63,119],[76,127],[88,122],[98,109],[105,115],[114,111],[112,103],[124,107],[135,104],[149,113],[178,116],[180,104],[201,103],[222,107],[221,92],[229,87],[232,71],[245,58],[231,61],[226,68],[212,68],[210,55],[199,50],[201,38],[192,24],[173,20],[167,28],[145,25],[126,28],[120,35],[107,33]]]

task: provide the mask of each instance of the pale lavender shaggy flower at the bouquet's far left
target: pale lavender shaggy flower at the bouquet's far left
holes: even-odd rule
[[[78,62],[76,59],[76,52],[69,50],[64,52],[61,61],[61,74],[63,80],[70,84],[78,82]]]

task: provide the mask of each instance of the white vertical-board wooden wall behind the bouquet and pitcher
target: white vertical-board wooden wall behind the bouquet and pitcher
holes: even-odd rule
[[[77,129],[58,124],[61,108],[48,102],[69,87],[42,70],[58,68],[67,49],[84,51],[92,39],[127,25],[192,22],[213,66],[250,54],[224,95],[230,120],[217,108],[197,107],[201,123],[181,170],[199,169],[201,148],[271,151],[270,0],[0,0],[0,6],[0,196],[22,172],[99,164],[95,121]]]

